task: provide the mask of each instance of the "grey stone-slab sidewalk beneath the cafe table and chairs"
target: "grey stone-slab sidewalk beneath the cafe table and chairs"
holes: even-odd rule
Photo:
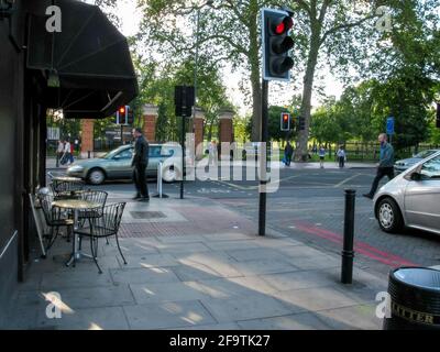
[[[99,262],[65,267],[58,239],[47,260],[35,253],[20,285],[9,329],[381,329],[375,297],[386,277],[355,268],[342,285],[340,257],[268,230],[216,201],[128,201],[120,231],[128,265],[101,241]],[[88,249],[88,242],[84,244]],[[61,319],[45,297],[58,293]]]

